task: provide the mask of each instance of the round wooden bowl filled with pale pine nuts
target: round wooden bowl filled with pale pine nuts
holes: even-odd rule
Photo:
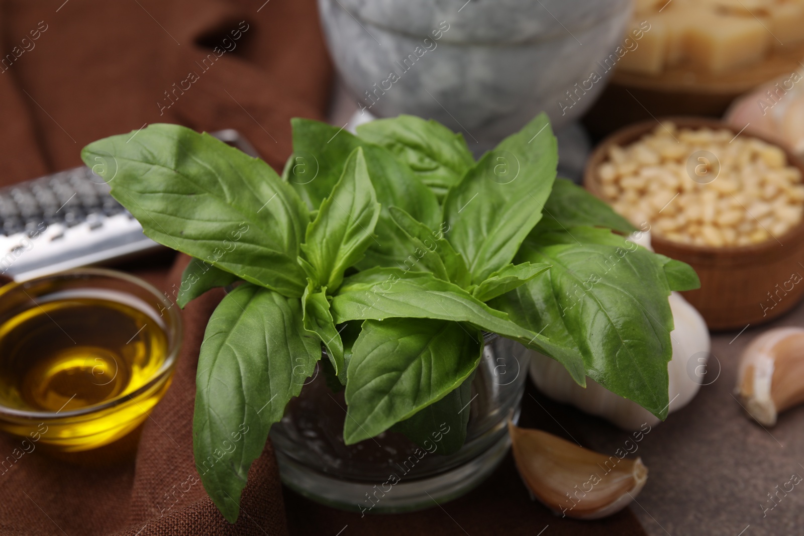
[[[789,150],[712,119],[626,127],[587,162],[584,183],[691,264],[684,293],[712,329],[741,329],[804,297],[804,164]]]

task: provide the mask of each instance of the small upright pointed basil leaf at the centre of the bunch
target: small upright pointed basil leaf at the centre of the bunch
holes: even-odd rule
[[[374,239],[371,233],[378,218],[379,203],[368,178],[363,149],[358,147],[347,158],[341,178],[307,227],[305,243],[301,244],[319,285],[330,292],[338,288],[343,272],[363,258]]]

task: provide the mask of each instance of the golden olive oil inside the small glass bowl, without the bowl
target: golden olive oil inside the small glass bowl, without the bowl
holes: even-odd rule
[[[137,307],[136,298],[100,289],[54,298],[0,325],[4,406],[88,407],[137,391],[162,367],[164,325]]]

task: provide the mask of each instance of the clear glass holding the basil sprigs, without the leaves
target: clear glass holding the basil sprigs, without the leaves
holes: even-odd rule
[[[507,421],[519,419],[527,359],[518,342],[486,334],[466,407],[466,442],[449,456],[426,452],[396,432],[344,444],[343,391],[331,391],[317,369],[271,429],[282,481],[314,501],[371,513],[423,509],[460,497],[490,475],[511,444]]]

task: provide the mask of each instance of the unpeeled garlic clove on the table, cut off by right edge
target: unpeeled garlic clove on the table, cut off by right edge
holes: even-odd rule
[[[740,358],[735,391],[763,426],[780,411],[804,402],[804,328],[769,329]]]

